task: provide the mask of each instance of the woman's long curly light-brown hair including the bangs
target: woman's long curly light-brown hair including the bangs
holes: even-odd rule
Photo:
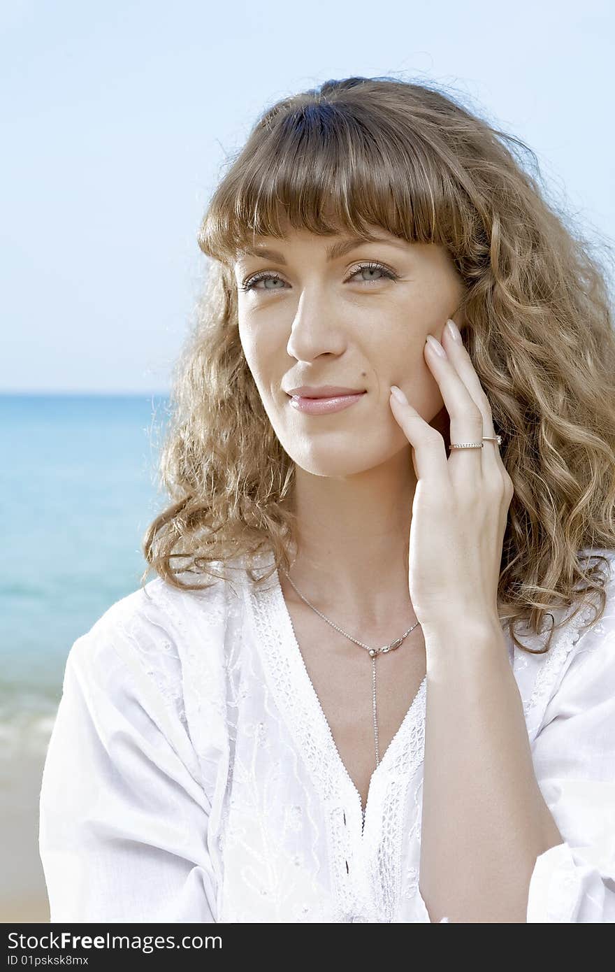
[[[253,582],[290,570],[294,465],[243,354],[232,263],[250,237],[282,237],[288,222],[366,237],[377,225],[445,247],[465,287],[463,342],[515,490],[501,621],[530,650],[514,624],[523,619],[540,634],[549,608],[570,607],[579,594],[598,594],[592,623],[599,620],[606,577],[598,565],[607,558],[595,550],[615,547],[615,335],[604,269],[545,201],[540,181],[523,142],[423,84],[328,81],[262,114],[198,233],[214,262],[176,366],[159,463],[172,503],[143,540],[143,583],[154,570],[175,587],[200,589],[189,574],[226,576],[244,556]],[[274,565],[256,576],[253,558],[265,549]],[[543,651],[558,627],[551,616]]]

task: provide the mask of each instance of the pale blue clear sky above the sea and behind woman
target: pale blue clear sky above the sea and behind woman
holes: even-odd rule
[[[224,165],[278,99],[395,75],[521,138],[613,245],[615,4],[0,4],[0,392],[166,394]]]

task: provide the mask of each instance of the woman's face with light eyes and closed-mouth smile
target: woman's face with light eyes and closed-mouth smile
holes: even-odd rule
[[[332,259],[331,246],[346,236],[256,237],[256,249],[277,256],[242,253],[234,264],[240,339],[264,409],[290,459],[315,475],[352,475],[409,448],[391,411],[391,385],[436,427],[442,412],[448,427],[424,346],[449,317],[462,324],[461,278],[443,248],[370,229],[382,241]],[[366,394],[341,411],[309,414],[287,394],[301,385]]]

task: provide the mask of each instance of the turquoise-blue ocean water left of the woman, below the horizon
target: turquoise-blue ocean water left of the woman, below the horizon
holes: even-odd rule
[[[72,643],[140,586],[165,396],[0,395],[0,751],[45,751]],[[149,575],[149,579],[155,576]]]

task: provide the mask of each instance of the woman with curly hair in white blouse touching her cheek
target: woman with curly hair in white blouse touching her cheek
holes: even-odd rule
[[[232,160],[158,576],[66,665],[52,921],[615,920],[615,339],[506,141],[352,78]]]

